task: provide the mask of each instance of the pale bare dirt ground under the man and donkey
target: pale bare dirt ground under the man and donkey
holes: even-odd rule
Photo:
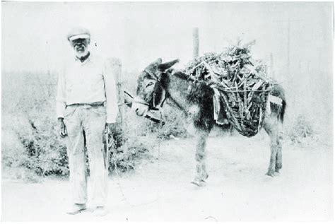
[[[211,137],[206,187],[194,177],[194,141],[173,139],[151,150],[136,171],[109,180],[108,214],[88,210],[66,215],[69,182],[40,183],[3,179],[4,221],[238,221],[332,220],[333,155],[330,145],[298,147],[285,143],[281,175],[265,175],[269,140]]]

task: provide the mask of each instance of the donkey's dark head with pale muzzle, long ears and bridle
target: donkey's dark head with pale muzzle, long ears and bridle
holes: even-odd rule
[[[167,70],[177,62],[179,59],[167,63],[162,63],[162,59],[157,59],[141,72],[137,80],[137,96],[131,107],[137,115],[143,116],[148,110],[155,109],[163,102]]]

